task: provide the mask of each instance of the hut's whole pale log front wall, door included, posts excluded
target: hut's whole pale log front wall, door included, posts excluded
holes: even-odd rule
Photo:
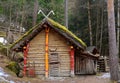
[[[49,60],[49,76],[70,76],[70,49],[66,39],[50,29],[48,48],[49,59],[55,58],[55,62]],[[27,63],[28,67],[35,67],[36,76],[45,76],[45,30],[30,41]]]

